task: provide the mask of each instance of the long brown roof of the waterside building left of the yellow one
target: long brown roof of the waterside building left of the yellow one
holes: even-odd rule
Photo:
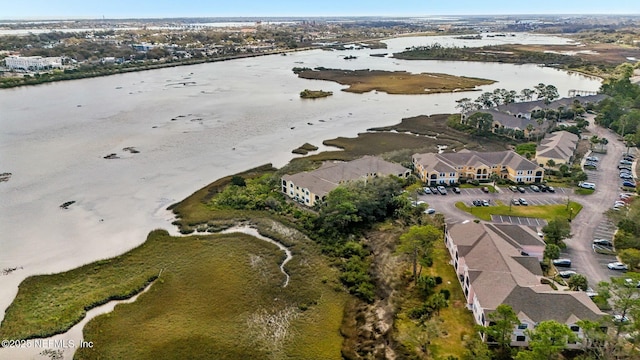
[[[316,170],[284,175],[282,179],[307,188],[318,196],[324,196],[344,181],[365,178],[370,174],[378,176],[401,175],[407,170],[402,165],[385,161],[376,156],[364,156],[349,162],[326,162]]]

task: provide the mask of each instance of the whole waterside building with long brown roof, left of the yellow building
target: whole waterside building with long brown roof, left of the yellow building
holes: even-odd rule
[[[365,156],[349,162],[326,162],[313,171],[284,175],[281,187],[290,198],[314,206],[341,184],[389,175],[406,178],[411,175],[411,170],[379,157]]]

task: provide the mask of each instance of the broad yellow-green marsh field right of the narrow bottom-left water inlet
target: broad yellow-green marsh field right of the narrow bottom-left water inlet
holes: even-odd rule
[[[76,358],[340,358],[345,295],[317,258],[294,256],[283,288],[282,252],[247,235],[155,232],[147,243],[165,271],[136,302],[89,322],[85,340],[95,346]],[[261,322],[287,312],[286,336]]]

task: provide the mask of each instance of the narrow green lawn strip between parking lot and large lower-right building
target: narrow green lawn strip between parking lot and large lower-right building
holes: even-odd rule
[[[557,204],[511,206],[511,208],[509,208],[508,204],[505,205],[502,203],[496,206],[467,206],[463,202],[457,202],[456,207],[486,221],[491,221],[491,215],[533,217],[547,221],[558,217],[568,219],[570,213],[571,217],[575,218],[576,215],[580,213],[580,210],[582,210],[582,205],[575,201],[571,201],[568,207],[567,204]]]

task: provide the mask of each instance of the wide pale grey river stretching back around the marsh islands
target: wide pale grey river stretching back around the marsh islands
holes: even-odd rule
[[[455,112],[456,99],[480,95],[352,94],[339,84],[299,79],[293,67],[498,81],[483,91],[543,82],[566,96],[569,89],[600,86],[597,79],[536,65],[369,56],[433,42],[488,41],[400,38],[389,40],[387,50],[312,50],[0,90],[0,173],[12,173],[0,183],[0,269],[21,267],[0,275],[0,310],[29,275],[115,256],[142,243],[150,230],[171,228],[166,207],[221,176],[269,162],[282,166],[305,142],[321,145],[403,117]],[[490,41],[566,43],[528,34]],[[334,95],[302,100],[305,88]],[[109,154],[118,158],[104,159]],[[61,209],[67,201],[75,203]]]

